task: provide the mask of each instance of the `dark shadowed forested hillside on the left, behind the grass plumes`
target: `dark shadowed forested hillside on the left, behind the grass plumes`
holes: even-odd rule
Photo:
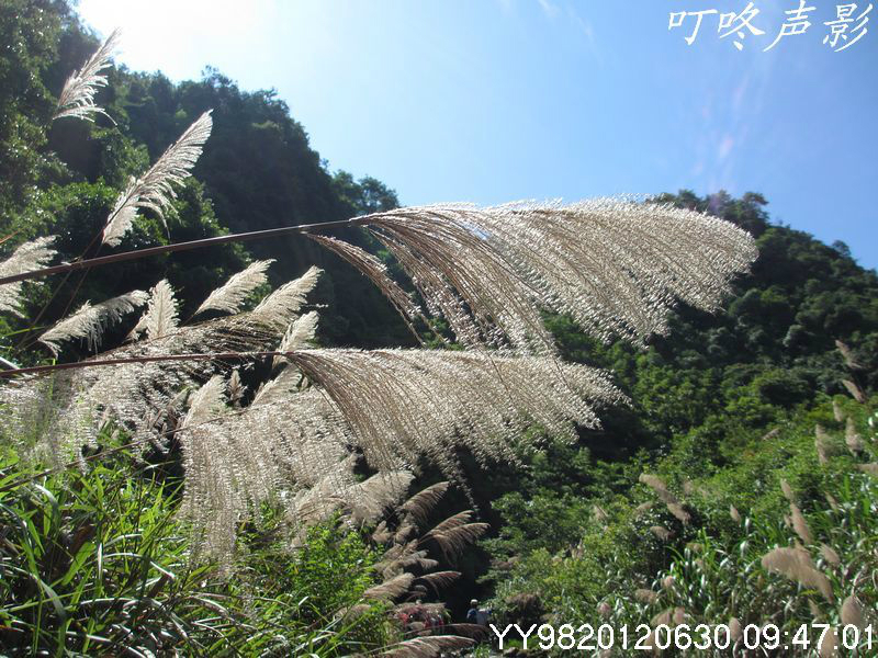
[[[158,222],[140,224],[117,251],[219,232],[344,219],[397,205],[395,193],[375,179],[356,181],[345,171],[329,172],[309,147],[304,128],[273,92],[241,91],[217,71],[207,70],[200,81],[176,86],[160,73],[113,69],[100,98],[108,116],[98,116],[93,124],[56,122],[47,131],[53,93],[99,42],[64,3],[45,5],[52,9],[13,2],[2,10],[4,43],[18,47],[15,58],[4,60],[0,72],[3,235],[14,232],[21,241],[64,228],[58,245],[63,257],[95,254],[89,239],[111,209],[117,189],[155,161],[206,110],[213,110],[216,127],[194,179],[179,194],[169,230]],[[175,287],[185,287],[181,309],[185,315],[194,310],[195,299],[239,269],[244,253],[239,247],[217,248],[119,265],[100,279],[88,276],[81,285],[71,277],[57,290],[43,319],[57,319],[86,299],[148,287],[157,272],[166,273]],[[277,260],[272,283],[288,281],[312,264],[325,269],[316,302],[329,305],[322,329],[330,343],[410,343],[410,336],[374,286],[308,240],[254,242],[247,245],[247,253]],[[32,308],[45,303],[32,298]]]

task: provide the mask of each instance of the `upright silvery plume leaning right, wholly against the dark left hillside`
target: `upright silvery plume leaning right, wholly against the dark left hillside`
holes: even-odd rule
[[[177,198],[175,185],[181,184],[191,175],[202,147],[211,136],[212,126],[211,111],[207,111],[168,147],[146,173],[138,179],[131,178],[106,218],[102,240],[104,245],[119,245],[140,208],[154,211],[165,222],[165,212],[170,207],[171,201]],[[167,223],[165,226],[167,228]]]

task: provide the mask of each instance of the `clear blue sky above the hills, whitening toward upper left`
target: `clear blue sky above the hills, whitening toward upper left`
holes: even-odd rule
[[[682,188],[763,193],[775,222],[878,266],[878,8],[842,52],[836,3],[777,36],[799,0],[754,0],[739,50],[718,14],[746,0],[80,0],[119,59],[173,80],[217,67],[278,90],[330,169],[404,204],[574,201]],[[868,2],[860,2],[853,18]],[[624,8],[624,9],[622,9]],[[856,22],[855,22],[856,24]],[[848,30],[853,29],[848,27]],[[853,38],[853,36],[851,37]],[[844,42],[840,42],[842,45]]]

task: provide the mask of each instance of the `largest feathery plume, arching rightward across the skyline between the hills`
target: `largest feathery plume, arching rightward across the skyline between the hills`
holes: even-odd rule
[[[756,257],[750,234],[730,223],[619,198],[406,207],[359,219],[459,342],[536,353],[554,351],[540,308],[570,314],[603,340],[642,344],[666,332],[676,299],[718,308]]]

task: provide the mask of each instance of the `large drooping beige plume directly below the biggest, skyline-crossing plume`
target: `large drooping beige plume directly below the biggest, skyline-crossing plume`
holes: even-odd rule
[[[592,404],[626,401],[606,373],[540,356],[301,350],[290,360],[338,407],[380,470],[428,456],[454,474],[455,445],[483,463],[516,460],[511,446],[531,423],[573,441],[573,423],[598,426]]]

